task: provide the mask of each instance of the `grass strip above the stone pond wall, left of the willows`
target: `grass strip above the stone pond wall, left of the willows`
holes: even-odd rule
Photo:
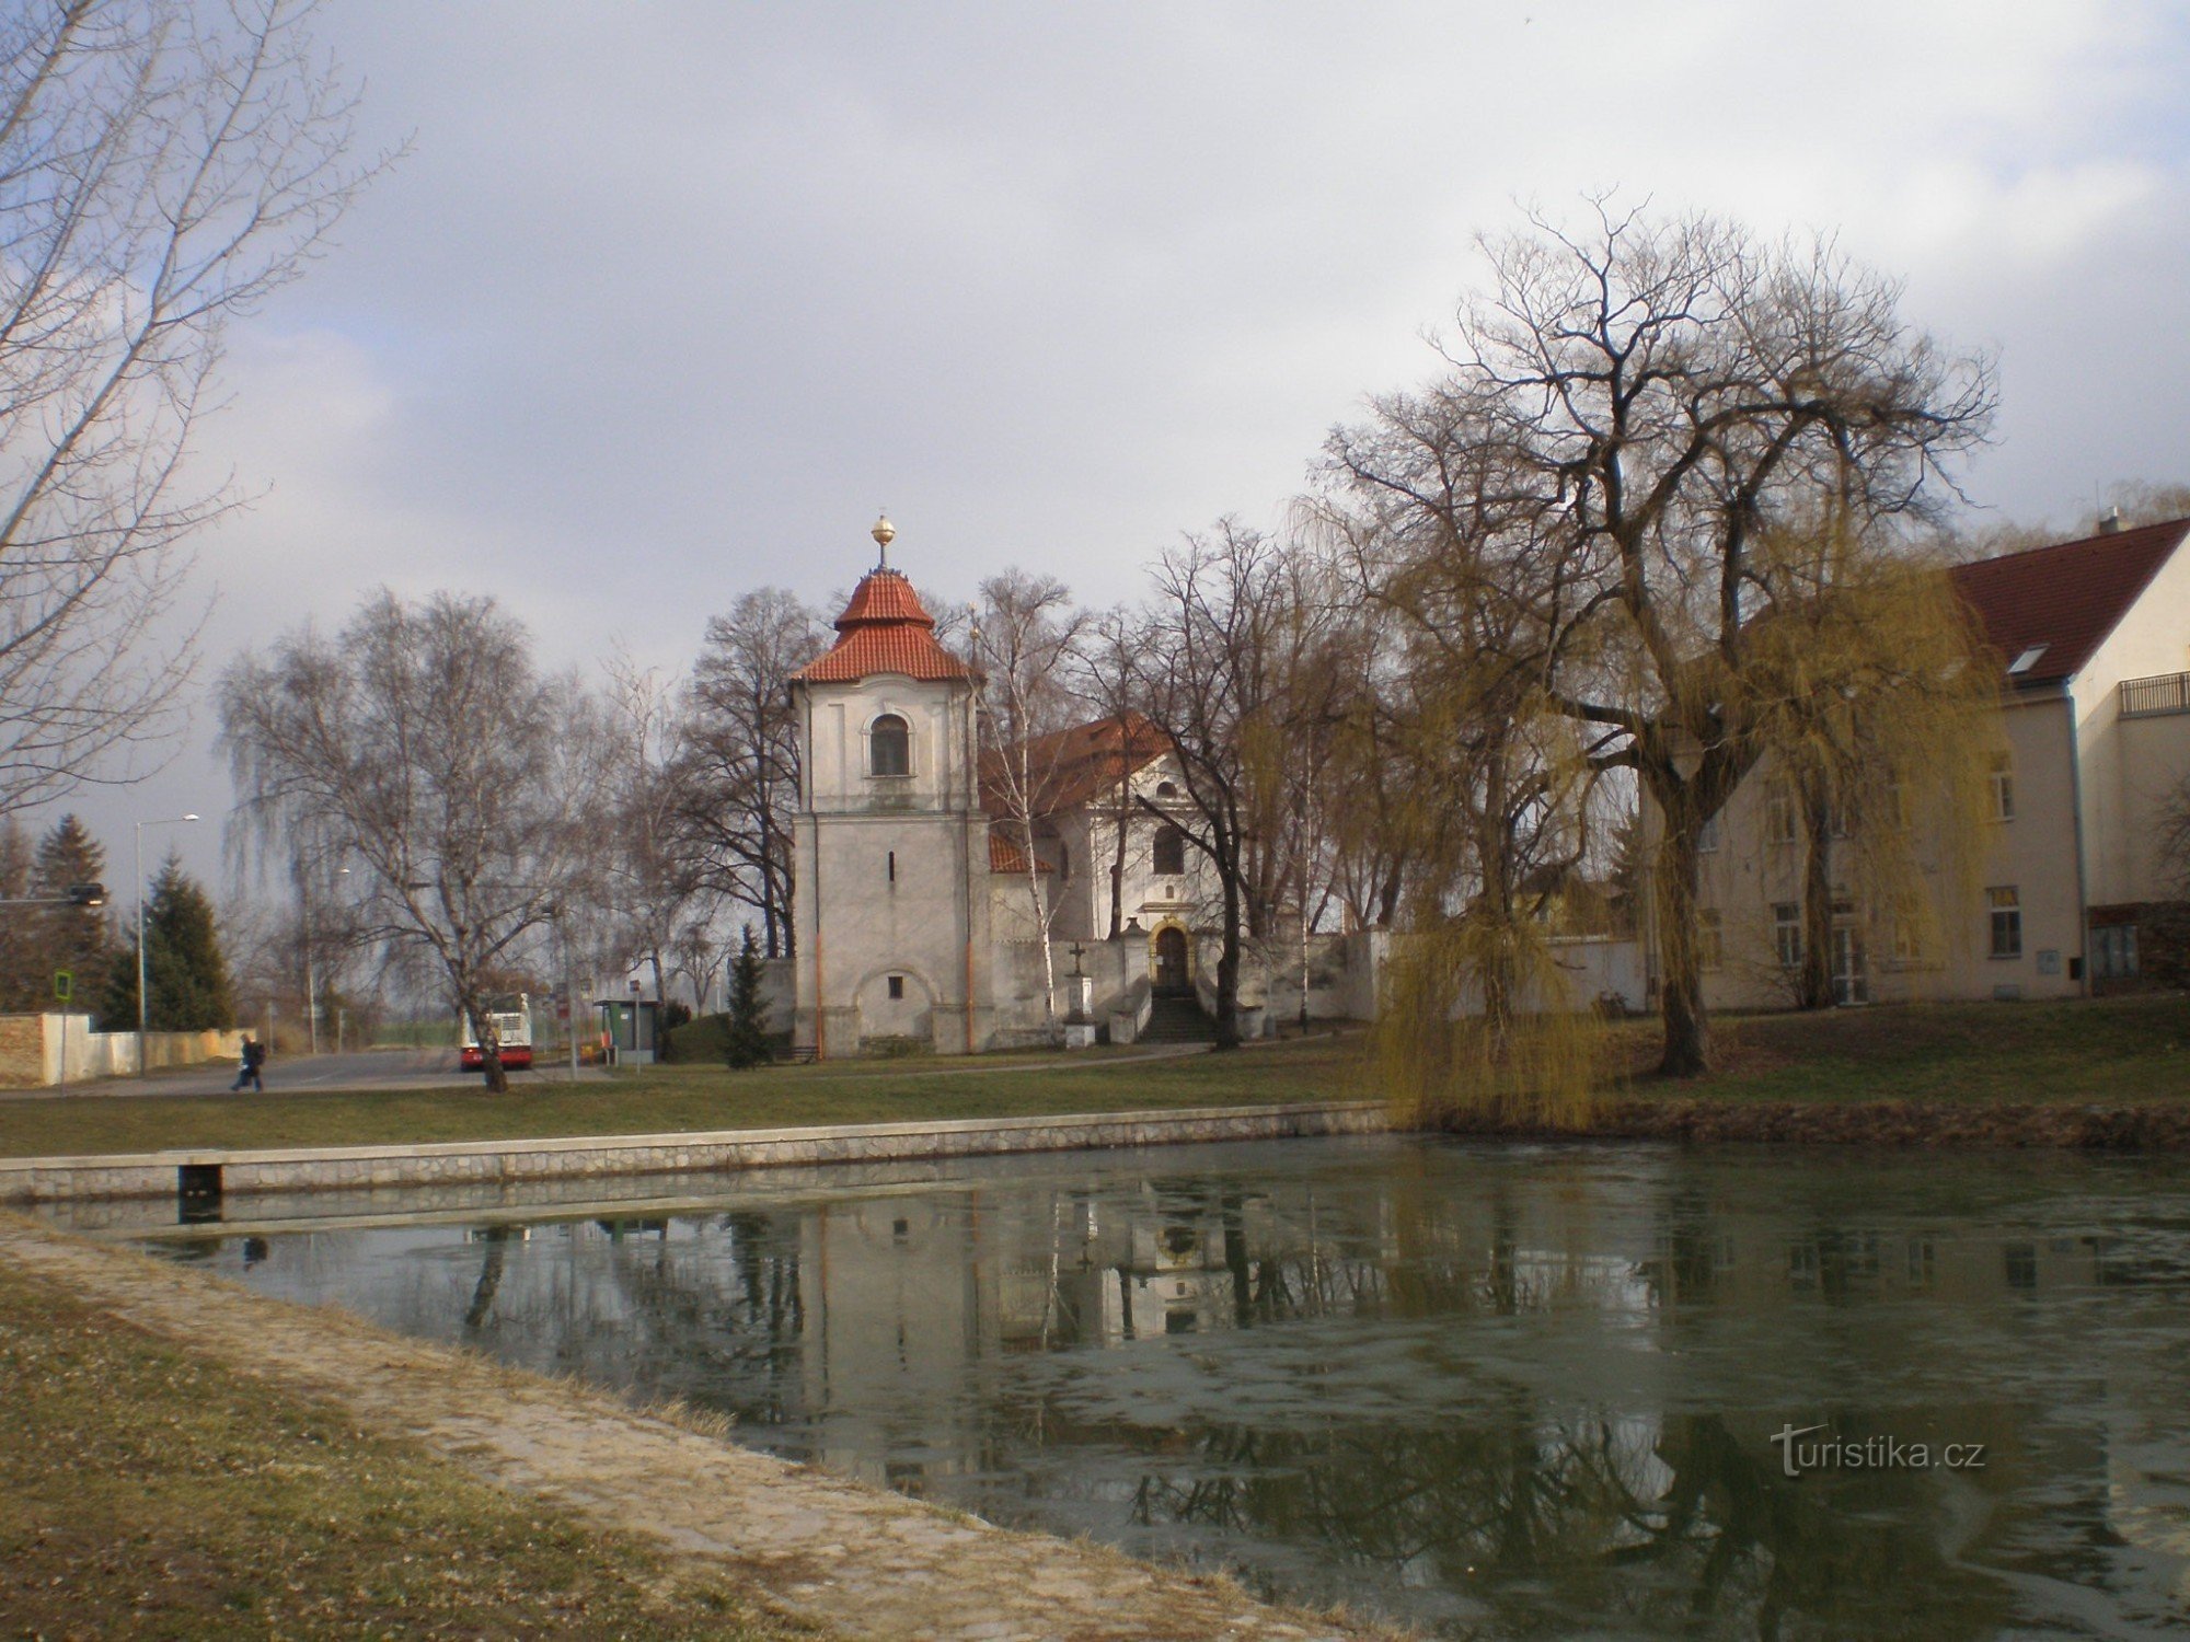
[[[169,1147],[401,1145],[569,1134],[675,1134],[806,1123],[904,1123],[1062,1112],[1253,1106],[1367,1092],[1360,1038],[1305,1038],[1237,1055],[1047,1055],[834,1062],[731,1073],[646,1066],[609,1082],[521,1082],[309,1095],[145,1095],[0,1101],[0,1156]]]

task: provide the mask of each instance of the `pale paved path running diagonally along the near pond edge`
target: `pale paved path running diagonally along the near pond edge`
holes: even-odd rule
[[[383,1333],[342,1311],[0,1219],[0,1259],[188,1351],[348,1408],[672,1552],[756,1579],[854,1638],[1364,1638],[1215,1579],[1005,1533],[639,1414],[578,1386]]]

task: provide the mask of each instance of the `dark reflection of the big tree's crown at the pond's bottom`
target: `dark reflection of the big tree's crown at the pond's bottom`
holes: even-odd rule
[[[1443,1430],[1213,1427],[1176,1476],[1143,1476],[1132,1515],[1428,1565],[1515,1633],[1629,1614],[1695,1635],[1975,1638],[2006,1618],[2006,1592],[1910,1522],[1918,1478],[1875,1476],[1842,1508],[1717,1416],[1673,1416],[1651,1445],[1610,1419],[1546,1423],[1518,1388],[1500,1403]]]

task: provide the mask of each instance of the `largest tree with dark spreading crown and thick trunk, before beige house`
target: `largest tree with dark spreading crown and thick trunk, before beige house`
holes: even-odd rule
[[[1991,366],[1912,331],[1899,285],[1829,241],[1597,201],[1586,232],[1531,219],[1483,250],[1489,289],[1441,342],[1432,392],[1544,508],[1535,687],[1658,817],[1660,1066],[1693,1075],[1710,1066],[1704,830],[1813,683],[1763,635],[1816,587],[1759,541],[1824,504],[1881,550],[1936,523],[1945,464],[1991,425]]]

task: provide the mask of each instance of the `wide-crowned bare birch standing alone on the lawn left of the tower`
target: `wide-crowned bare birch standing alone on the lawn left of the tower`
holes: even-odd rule
[[[423,952],[502,1071],[488,1009],[534,930],[578,900],[598,849],[607,725],[491,598],[370,598],[221,679],[221,744],[261,847],[304,834],[357,863],[368,937]]]

